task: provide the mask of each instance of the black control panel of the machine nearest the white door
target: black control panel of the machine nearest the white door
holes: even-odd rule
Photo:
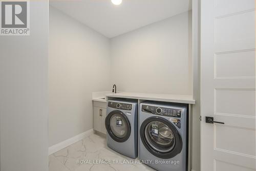
[[[168,117],[175,117],[175,118],[180,118],[181,112],[182,112],[182,110],[179,110],[179,109],[162,108],[158,106],[144,105],[144,104],[142,104],[141,111],[146,113],[151,113],[154,115],[168,116]]]

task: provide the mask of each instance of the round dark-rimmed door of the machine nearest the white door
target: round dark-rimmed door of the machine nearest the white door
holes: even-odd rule
[[[176,127],[161,117],[150,117],[140,126],[140,138],[156,157],[168,159],[181,152],[182,139]]]

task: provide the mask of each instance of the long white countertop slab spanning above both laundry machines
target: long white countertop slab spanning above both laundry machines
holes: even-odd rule
[[[193,99],[192,95],[120,92],[120,93],[105,94],[105,96],[106,97],[132,98],[132,99],[141,99],[141,100],[188,103],[188,104],[196,103],[196,100]]]

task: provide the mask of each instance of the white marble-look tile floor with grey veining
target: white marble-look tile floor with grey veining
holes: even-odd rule
[[[50,160],[51,158],[51,160]],[[108,163],[94,163],[94,161],[109,160]],[[132,160],[130,164],[120,164],[114,161]],[[92,134],[66,148],[49,156],[50,171],[93,171],[93,170],[109,170],[109,171],[140,171],[154,170],[144,164],[135,163],[136,159],[123,156],[106,146],[106,138],[96,134]],[[77,161],[84,161],[77,163]],[[87,161],[87,162],[86,162]],[[90,161],[90,162],[89,162]],[[58,168],[59,167],[59,168]],[[56,168],[56,170],[54,170]]]

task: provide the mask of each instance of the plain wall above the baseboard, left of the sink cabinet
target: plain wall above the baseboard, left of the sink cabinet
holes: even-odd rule
[[[110,40],[50,7],[49,146],[93,127],[92,92],[111,90]]]

